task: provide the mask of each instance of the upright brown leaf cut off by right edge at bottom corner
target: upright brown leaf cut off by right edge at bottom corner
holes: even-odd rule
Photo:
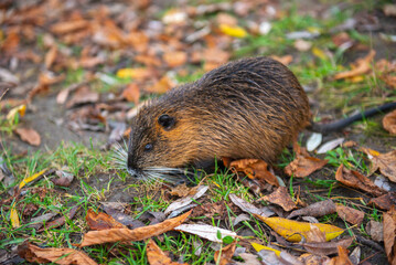
[[[385,253],[390,264],[396,264],[396,210],[392,205],[390,210],[384,213],[384,245]]]

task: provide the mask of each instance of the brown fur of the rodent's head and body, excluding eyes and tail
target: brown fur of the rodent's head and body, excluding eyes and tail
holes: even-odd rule
[[[163,114],[175,119],[168,130],[158,123]],[[132,121],[128,167],[202,167],[215,157],[274,162],[308,123],[296,76],[272,59],[244,59],[142,107]],[[145,151],[147,144],[152,150]]]

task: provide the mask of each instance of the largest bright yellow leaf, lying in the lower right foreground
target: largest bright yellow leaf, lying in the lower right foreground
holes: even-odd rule
[[[342,229],[330,224],[297,222],[282,218],[264,218],[257,214],[255,214],[255,216],[291,242],[300,242],[301,235],[307,237],[307,233],[311,230],[311,225],[314,225],[322,231],[325,234],[327,241],[331,241],[344,232]]]

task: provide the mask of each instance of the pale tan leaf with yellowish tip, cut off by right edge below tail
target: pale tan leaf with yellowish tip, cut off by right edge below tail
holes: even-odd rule
[[[368,148],[362,148],[372,160],[370,174],[379,169],[381,173],[388,178],[390,181],[396,182],[396,150],[386,153],[379,153]]]

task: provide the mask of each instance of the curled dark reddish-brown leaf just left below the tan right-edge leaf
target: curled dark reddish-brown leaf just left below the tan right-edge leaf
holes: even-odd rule
[[[336,170],[335,179],[345,186],[366,191],[375,197],[385,193],[383,189],[376,187],[367,177],[355,170],[346,169],[343,165]]]

